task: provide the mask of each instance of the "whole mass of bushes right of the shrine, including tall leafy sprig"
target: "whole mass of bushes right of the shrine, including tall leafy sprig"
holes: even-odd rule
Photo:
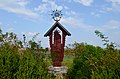
[[[95,31],[105,49],[86,43],[73,45],[75,58],[73,66],[68,71],[69,79],[119,79],[120,78],[120,51],[115,43],[109,42],[108,37]]]

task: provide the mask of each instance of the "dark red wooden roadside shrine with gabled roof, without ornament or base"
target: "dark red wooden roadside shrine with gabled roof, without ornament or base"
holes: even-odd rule
[[[59,28],[56,29],[56,28]],[[60,34],[60,31],[62,32]],[[66,36],[71,34],[58,22],[46,32],[45,37],[49,36],[51,55],[54,67],[60,67],[64,58],[64,46]]]

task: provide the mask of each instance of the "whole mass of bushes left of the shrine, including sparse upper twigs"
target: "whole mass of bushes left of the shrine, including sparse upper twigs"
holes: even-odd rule
[[[16,37],[0,30],[0,79],[53,79],[47,71],[48,50],[23,48]]]

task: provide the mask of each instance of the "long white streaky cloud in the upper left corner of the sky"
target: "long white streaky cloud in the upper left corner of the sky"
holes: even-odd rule
[[[0,9],[28,16],[30,18],[38,17],[38,14],[26,8],[28,1],[26,0],[0,0]]]

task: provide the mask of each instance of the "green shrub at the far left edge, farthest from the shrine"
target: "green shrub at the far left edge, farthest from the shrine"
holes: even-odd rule
[[[0,79],[14,79],[19,69],[17,48],[3,46],[0,48]]]

